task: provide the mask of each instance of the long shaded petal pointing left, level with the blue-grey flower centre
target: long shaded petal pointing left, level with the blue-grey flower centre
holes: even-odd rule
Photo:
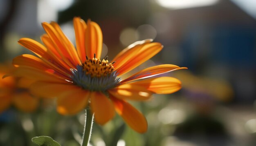
[[[35,68],[19,67],[13,71],[12,75],[16,77],[27,77],[30,80],[67,83],[67,80],[61,76],[53,74],[50,71],[45,72]]]

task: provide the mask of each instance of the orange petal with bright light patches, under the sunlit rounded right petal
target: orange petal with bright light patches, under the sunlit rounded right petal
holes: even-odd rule
[[[148,100],[152,95],[145,87],[133,84],[122,84],[108,92],[119,99],[126,100]]]

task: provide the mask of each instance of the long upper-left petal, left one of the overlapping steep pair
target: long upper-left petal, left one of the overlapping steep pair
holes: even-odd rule
[[[74,61],[72,55],[67,51],[65,44],[63,44],[63,41],[61,40],[60,34],[58,34],[54,27],[49,23],[44,22],[42,23],[42,26],[45,29],[45,32],[47,33],[49,38],[52,40],[55,49],[61,55],[63,61],[71,68],[74,68],[78,64],[78,62]]]

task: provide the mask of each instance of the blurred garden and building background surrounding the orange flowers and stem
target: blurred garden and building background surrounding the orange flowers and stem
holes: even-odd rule
[[[94,124],[92,146],[256,146],[255,0],[0,0],[1,64],[31,53],[17,41],[40,41],[41,22],[58,22],[75,42],[74,16],[100,25],[102,58],[152,38],[164,49],[134,72],[157,64],[189,68],[165,74],[182,81],[177,93],[131,102],[146,116],[147,133],[117,115]],[[54,101],[40,101],[33,113],[10,106],[0,113],[0,145],[34,146],[32,137],[47,135],[79,146],[83,123],[83,112],[63,117]]]

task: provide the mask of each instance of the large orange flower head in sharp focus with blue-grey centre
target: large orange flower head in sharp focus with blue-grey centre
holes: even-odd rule
[[[40,97],[58,97],[57,111],[63,115],[76,114],[90,106],[94,119],[105,124],[115,115],[139,133],[147,131],[145,117],[126,100],[148,100],[150,95],[178,91],[181,82],[173,77],[154,77],[169,71],[184,69],[171,64],[149,67],[121,80],[128,73],[162,50],[152,40],[135,42],[121,51],[113,61],[100,60],[102,32],[99,25],[74,18],[76,48],[56,22],[43,22],[47,34],[42,45],[29,38],[18,42],[39,58],[24,54],[13,59],[19,69],[15,75],[38,80],[31,92]]]

